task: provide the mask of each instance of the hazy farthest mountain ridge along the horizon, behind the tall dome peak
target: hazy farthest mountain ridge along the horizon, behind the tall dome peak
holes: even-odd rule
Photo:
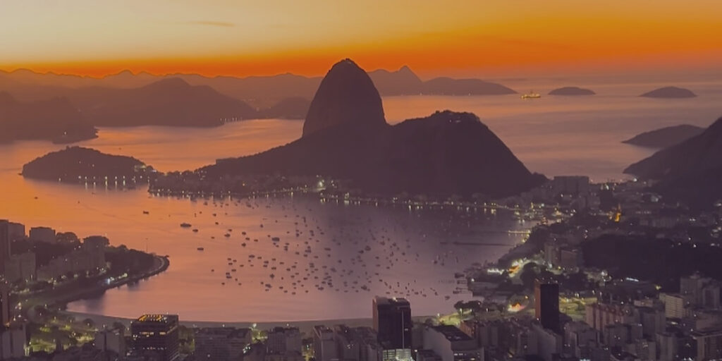
[[[480,79],[451,79],[440,77],[422,81],[408,66],[397,71],[378,69],[369,76],[380,95],[505,95],[514,90]],[[218,92],[267,107],[288,97],[313,97],[321,77],[279,74],[269,77],[204,77],[198,74],[152,75],[121,71],[103,78],[77,75],[38,74],[29,70],[0,71],[0,90],[12,92],[19,99],[37,100],[62,92],[60,88],[107,87],[136,88],[162,79],[178,78],[191,85],[207,85]],[[40,92],[38,92],[40,87]]]

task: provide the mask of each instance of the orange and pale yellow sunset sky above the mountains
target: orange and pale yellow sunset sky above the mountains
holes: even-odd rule
[[[0,0],[0,69],[425,76],[722,64],[720,0]]]

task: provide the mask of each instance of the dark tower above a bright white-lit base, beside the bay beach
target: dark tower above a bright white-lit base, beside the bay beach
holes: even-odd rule
[[[375,297],[373,329],[384,349],[411,348],[411,305],[405,298]]]

